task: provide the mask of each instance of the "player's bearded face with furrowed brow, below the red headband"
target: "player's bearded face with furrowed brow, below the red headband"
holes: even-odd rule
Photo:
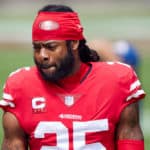
[[[34,62],[45,80],[56,82],[72,72],[75,61],[66,41],[36,41],[33,49]]]

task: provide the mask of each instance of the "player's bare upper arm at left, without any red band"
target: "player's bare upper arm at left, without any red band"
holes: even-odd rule
[[[28,144],[25,133],[19,126],[16,117],[5,112],[3,115],[4,138],[2,150],[27,150]]]

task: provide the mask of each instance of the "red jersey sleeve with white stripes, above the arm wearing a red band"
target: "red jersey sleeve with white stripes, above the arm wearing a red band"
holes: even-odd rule
[[[119,114],[126,106],[142,100],[146,95],[145,91],[142,89],[141,82],[132,67],[129,65],[126,65],[125,67],[126,68],[124,70],[120,70],[121,72],[124,71],[124,73],[122,73],[123,76],[120,78],[120,88],[123,89],[126,96],[122,101]]]

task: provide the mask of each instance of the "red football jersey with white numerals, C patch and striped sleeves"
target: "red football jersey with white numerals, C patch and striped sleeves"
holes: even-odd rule
[[[145,93],[130,66],[90,64],[87,77],[69,91],[44,81],[36,67],[9,76],[0,105],[16,116],[31,150],[115,149],[122,110]]]

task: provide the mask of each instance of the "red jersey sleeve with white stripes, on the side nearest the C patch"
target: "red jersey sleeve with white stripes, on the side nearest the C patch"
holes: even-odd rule
[[[0,107],[4,111],[15,112],[21,97],[21,88],[24,86],[24,72],[28,71],[29,67],[20,68],[12,72],[4,85],[2,100],[0,100]],[[19,104],[20,105],[20,104]]]

